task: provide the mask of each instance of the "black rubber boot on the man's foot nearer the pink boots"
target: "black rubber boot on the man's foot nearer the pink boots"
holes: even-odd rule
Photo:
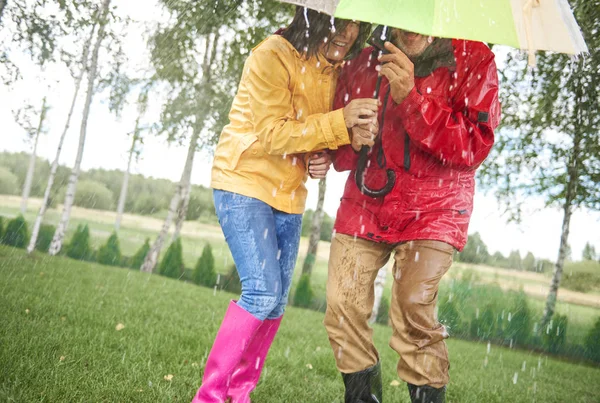
[[[354,372],[342,374],[346,386],[346,403],[381,403],[383,388],[381,384],[381,364]]]

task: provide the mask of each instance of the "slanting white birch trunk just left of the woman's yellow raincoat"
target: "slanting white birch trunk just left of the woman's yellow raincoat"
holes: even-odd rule
[[[177,210],[179,208],[179,204],[181,202],[181,196],[183,194],[183,189],[186,186],[186,178],[191,176],[192,166],[194,164],[194,155],[196,154],[196,145],[198,143],[198,137],[200,133],[195,131],[190,140],[190,145],[188,147],[188,154],[185,160],[185,166],[183,168],[183,172],[181,174],[181,179],[177,184],[177,188],[175,189],[175,193],[173,194],[173,198],[171,199],[171,203],[169,204],[169,211],[167,212],[167,218],[165,218],[165,222],[158,234],[158,237],[152,244],[152,247],[148,251],[146,255],[146,259],[144,259],[144,263],[140,267],[140,270],[146,273],[152,273],[154,268],[156,267],[156,263],[158,262],[158,256],[160,255],[160,251],[165,243],[165,239],[169,232],[169,228],[171,228],[171,224],[173,222],[173,218],[177,215]]]

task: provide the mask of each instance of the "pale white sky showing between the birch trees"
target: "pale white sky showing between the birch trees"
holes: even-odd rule
[[[128,14],[138,21],[155,21],[160,14],[155,1],[144,1],[144,7],[136,6],[141,0],[118,3],[118,12]],[[284,22],[282,22],[283,24]],[[126,52],[133,61],[143,64],[145,45],[141,31],[131,28],[124,38]],[[2,38],[0,38],[2,40]],[[26,140],[23,129],[14,121],[12,110],[32,103],[37,109],[44,95],[48,96],[51,106],[46,127],[48,132],[39,141],[38,155],[52,161],[56,146],[64,127],[70,106],[74,84],[69,73],[62,66],[53,66],[43,74],[28,63],[26,57],[18,58],[23,68],[24,79],[12,89],[0,85],[0,151],[31,151],[31,143]],[[51,83],[48,88],[48,83]],[[80,92],[83,101],[85,91]],[[81,121],[82,103],[75,110],[71,128],[67,134],[60,158],[61,164],[72,166],[77,152],[77,143]],[[157,120],[159,105],[154,104],[146,114],[147,122]],[[106,96],[99,94],[92,104],[88,122],[85,152],[82,168],[125,169],[130,137],[136,119],[135,105],[129,105],[120,119],[108,111]],[[164,138],[147,137],[134,173],[179,180],[186,157],[186,147],[169,145]],[[210,184],[212,157],[208,152],[196,154],[192,182],[203,186]],[[325,211],[334,217],[342,196],[346,173],[337,173],[333,169],[328,174]],[[314,209],[317,201],[317,181],[309,179],[307,208]],[[479,232],[490,253],[500,251],[505,256],[511,250],[519,250],[521,256],[531,251],[538,258],[555,260],[558,255],[563,212],[560,209],[544,208],[543,200],[532,198],[525,207],[523,221],[520,224],[508,224],[492,194],[477,190],[474,211],[469,233]],[[600,213],[576,210],[571,219],[569,244],[573,258],[580,259],[586,242],[590,242],[600,251]]]

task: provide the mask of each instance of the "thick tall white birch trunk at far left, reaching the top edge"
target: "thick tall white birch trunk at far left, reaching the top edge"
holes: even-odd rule
[[[65,237],[67,226],[69,225],[69,218],[71,216],[71,208],[73,207],[73,201],[75,200],[75,191],[77,190],[77,180],[79,179],[79,172],[81,169],[81,160],[83,159],[83,148],[85,146],[85,136],[87,133],[87,122],[90,115],[90,108],[92,99],[94,97],[94,84],[96,81],[96,72],[98,70],[98,54],[100,52],[100,44],[104,39],[104,31],[107,23],[108,7],[110,0],[104,0],[102,4],[102,16],[100,21],[100,29],[98,29],[98,37],[94,44],[94,50],[92,52],[92,61],[90,65],[90,72],[88,74],[88,88],[85,99],[85,106],[83,108],[83,118],[81,119],[81,129],[79,132],[79,147],[77,148],[77,157],[75,158],[75,165],[69,176],[69,183],[67,185],[67,192],[65,194],[65,201],[63,204],[63,212],[52,238],[50,249],[48,253],[54,256],[60,252]]]

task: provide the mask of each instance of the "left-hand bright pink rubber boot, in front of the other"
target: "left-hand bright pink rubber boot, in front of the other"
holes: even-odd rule
[[[204,367],[202,386],[192,403],[223,403],[227,398],[233,371],[262,321],[240,308],[234,301],[229,303],[223,323]]]

